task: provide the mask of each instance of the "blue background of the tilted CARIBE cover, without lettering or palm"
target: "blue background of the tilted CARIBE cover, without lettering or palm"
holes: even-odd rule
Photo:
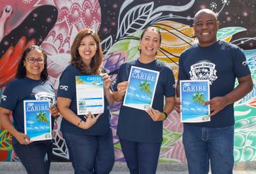
[[[134,70],[134,69],[133,69]],[[150,71],[145,71],[141,69],[135,69],[136,71],[139,72],[139,74],[144,74],[147,76],[153,76],[155,79],[157,78],[157,73],[156,72],[150,72]],[[151,93],[146,93],[145,91],[141,91],[139,89],[139,84],[143,83],[143,81],[146,81],[147,83],[150,84],[150,91]],[[150,104],[151,98],[153,95],[153,88],[155,86],[155,81],[149,81],[145,79],[137,79],[135,77],[130,78],[130,84],[129,88],[127,90],[127,97],[126,97],[126,102],[127,103],[133,103],[133,104]]]

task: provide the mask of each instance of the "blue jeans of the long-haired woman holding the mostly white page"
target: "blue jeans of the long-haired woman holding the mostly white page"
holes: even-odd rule
[[[108,174],[115,163],[112,131],[102,136],[62,132],[75,174]]]

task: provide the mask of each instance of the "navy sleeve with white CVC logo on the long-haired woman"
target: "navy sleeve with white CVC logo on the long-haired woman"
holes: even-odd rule
[[[76,93],[75,85],[75,75],[67,69],[64,70],[60,76],[57,97],[69,98],[72,100]]]

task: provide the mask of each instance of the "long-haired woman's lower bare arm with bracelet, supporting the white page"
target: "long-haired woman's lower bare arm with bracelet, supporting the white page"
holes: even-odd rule
[[[81,121],[82,119],[76,116],[76,114],[71,109],[69,109],[70,104],[71,100],[69,98],[57,97],[57,107],[59,109],[60,114],[67,121],[84,130],[89,129],[92,125],[94,125],[99,116],[101,116],[101,114],[98,114],[96,117],[94,117],[93,114],[89,113],[87,116],[84,116],[87,120]]]

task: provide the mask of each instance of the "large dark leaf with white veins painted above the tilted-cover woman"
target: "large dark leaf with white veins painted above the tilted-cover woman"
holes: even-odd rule
[[[152,15],[153,2],[134,6],[124,15],[122,22],[118,22],[117,38],[141,30]]]

